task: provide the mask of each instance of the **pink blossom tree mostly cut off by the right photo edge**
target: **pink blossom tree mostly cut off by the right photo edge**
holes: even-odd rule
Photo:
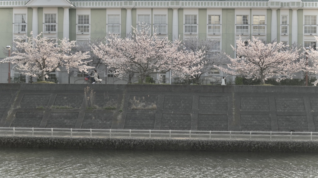
[[[315,38],[316,38],[316,41],[318,42],[318,37],[315,36]],[[318,74],[318,51],[311,46],[309,47],[309,51],[308,52],[306,51],[305,55],[307,55],[306,64],[308,64],[306,65],[306,72],[317,75]],[[318,83],[318,79],[313,82],[314,86],[316,86],[317,83]]]

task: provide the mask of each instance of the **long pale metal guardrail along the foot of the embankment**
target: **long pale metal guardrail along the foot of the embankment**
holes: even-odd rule
[[[193,130],[101,130],[57,128],[0,128],[0,135],[49,137],[200,138],[257,140],[318,140],[318,132],[193,131]]]

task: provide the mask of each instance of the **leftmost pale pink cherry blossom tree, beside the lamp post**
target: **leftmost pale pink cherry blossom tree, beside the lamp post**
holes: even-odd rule
[[[23,37],[17,36],[17,41],[14,43],[23,52],[14,51],[12,57],[7,57],[0,62],[17,64],[21,73],[41,80],[48,78],[51,72],[60,71],[60,67],[64,67],[68,73],[70,68],[77,68],[84,72],[93,68],[87,65],[90,61],[85,60],[90,57],[87,55],[89,52],[71,53],[72,48],[76,46],[75,41],[52,40],[41,35],[42,33],[34,37],[31,32],[31,37],[26,37],[26,42],[23,42]]]

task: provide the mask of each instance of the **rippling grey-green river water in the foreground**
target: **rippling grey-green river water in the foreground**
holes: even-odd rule
[[[318,177],[318,153],[0,148],[0,177]]]

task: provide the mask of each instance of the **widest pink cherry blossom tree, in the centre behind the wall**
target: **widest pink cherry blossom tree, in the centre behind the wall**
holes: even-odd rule
[[[195,54],[185,50],[179,39],[159,38],[156,33],[151,34],[146,25],[141,27],[140,30],[133,28],[131,38],[110,34],[106,44],[92,45],[94,54],[116,69],[120,76],[135,73],[143,82],[152,73],[166,73],[173,69],[175,73],[194,75],[203,66],[203,63],[191,65],[200,63],[202,52]]]

